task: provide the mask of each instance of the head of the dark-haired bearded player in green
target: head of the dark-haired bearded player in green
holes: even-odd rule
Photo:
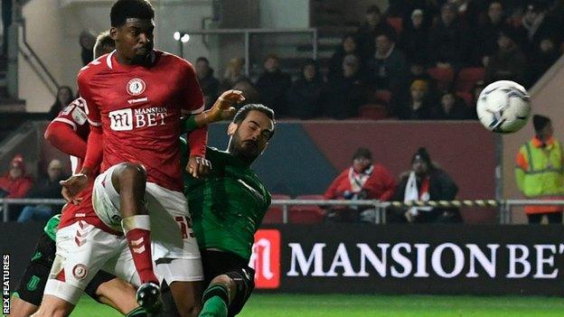
[[[228,151],[252,163],[267,148],[275,125],[271,108],[260,104],[241,107],[227,129],[230,135]]]

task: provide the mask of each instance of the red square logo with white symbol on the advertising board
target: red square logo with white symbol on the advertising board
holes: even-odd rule
[[[257,288],[280,286],[280,231],[263,229],[255,233],[249,266],[255,269]]]

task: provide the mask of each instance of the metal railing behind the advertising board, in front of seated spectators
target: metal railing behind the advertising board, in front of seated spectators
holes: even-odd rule
[[[10,205],[64,205],[66,200],[33,199],[33,198],[0,198],[2,219],[10,219]],[[374,223],[386,223],[386,208],[394,207],[481,207],[498,208],[499,223],[502,225],[512,223],[512,208],[516,206],[564,206],[564,200],[431,200],[431,201],[380,201],[380,200],[272,200],[272,205],[282,206],[282,222],[288,223],[289,206],[317,205],[317,206],[368,206],[376,210]]]

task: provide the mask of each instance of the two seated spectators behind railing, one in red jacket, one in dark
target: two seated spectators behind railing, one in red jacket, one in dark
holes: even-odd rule
[[[325,200],[428,201],[455,200],[458,187],[447,172],[431,160],[421,147],[413,154],[409,170],[398,182],[381,164],[372,160],[370,150],[359,148],[353,164],[341,172],[324,192]],[[366,206],[333,206],[325,210],[325,221],[374,222],[377,210]],[[431,207],[393,207],[387,210],[390,223],[460,223],[460,210]]]

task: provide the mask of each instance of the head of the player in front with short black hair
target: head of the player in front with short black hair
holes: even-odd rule
[[[145,63],[153,50],[155,9],[146,0],[118,0],[110,12],[109,34],[116,41],[118,57]]]

